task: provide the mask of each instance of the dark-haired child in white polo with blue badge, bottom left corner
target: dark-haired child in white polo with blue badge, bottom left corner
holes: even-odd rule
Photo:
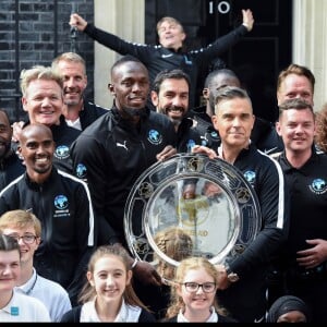
[[[15,290],[21,274],[17,241],[0,232],[0,323],[50,323],[46,306]]]

